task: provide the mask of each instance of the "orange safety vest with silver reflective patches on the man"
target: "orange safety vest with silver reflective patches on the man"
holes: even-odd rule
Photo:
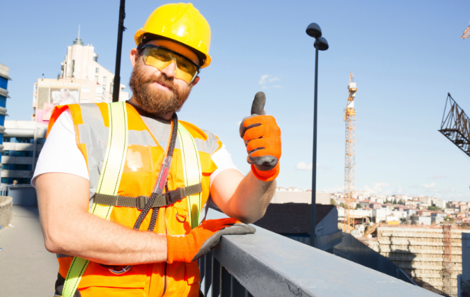
[[[150,196],[165,156],[166,147],[159,145],[136,109],[130,104],[125,105],[127,108],[129,137],[126,163],[120,179],[118,195]],[[88,167],[90,187],[96,189],[107,149],[108,104],[58,106],[49,121],[47,134],[49,134],[58,116],[66,110],[70,110],[72,115],[77,146],[84,155]],[[193,136],[199,153],[203,172],[201,180],[203,188],[201,214],[203,214],[207,209],[210,175],[217,169],[211,155],[221,148],[222,143],[217,136],[188,122],[179,121],[179,124],[183,125]],[[167,179],[169,191],[185,186],[180,145],[178,140]],[[139,152],[139,154],[136,152]],[[139,160],[139,157],[141,157],[141,160]],[[138,164],[138,166],[135,166],[135,164]],[[132,207],[113,207],[111,221],[132,229],[140,212],[140,210]],[[151,216],[152,210],[143,220],[141,230],[147,230]],[[169,207],[161,207],[157,216],[157,225],[155,225],[153,232],[172,235],[189,234],[191,223],[186,220],[187,217],[187,198],[183,198]],[[58,255],[58,273],[63,278],[67,276],[72,259],[72,256]],[[79,282],[78,289],[83,297],[198,296],[198,282],[200,280],[201,276],[197,261],[191,263],[175,262],[173,264],[167,264],[166,262],[139,264],[132,266],[130,271],[122,275],[115,275],[109,269],[100,266],[100,264],[90,262]]]

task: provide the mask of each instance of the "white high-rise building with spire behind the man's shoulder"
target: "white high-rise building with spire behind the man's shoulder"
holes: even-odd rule
[[[93,45],[80,36],[67,47],[56,79],[40,78],[33,90],[33,120],[47,123],[54,106],[72,103],[112,102],[114,74],[98,63]],[[119,101],[129,99],[120,84]]]

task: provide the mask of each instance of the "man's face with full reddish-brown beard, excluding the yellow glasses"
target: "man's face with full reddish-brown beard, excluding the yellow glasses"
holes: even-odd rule
[[[152,40],[148,44],[159,45],[160,40]],[[166,42],[171,47],[171,44]],[[159,45],[160,46],[160,45]],[[181,46],[180,46],[181,47]],[[178,47],[171,48],[178,51]],[[183,50],[184,51],[184,50]],[[166,114],[179,111],[186,102],[195,81],[189,83],[175,78],[175,63],[170,63],[164,70],[145,65],[143,56],[136,58],[134,70],[130,78],[129,86],[144,111],[148,113]]]

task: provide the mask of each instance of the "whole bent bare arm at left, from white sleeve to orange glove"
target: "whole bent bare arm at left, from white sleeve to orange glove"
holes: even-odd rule
[[[49,252],[102,264],[166,261],[166,236],[130,230],[88,213],[88,180],[47,173],[37,177],[36,191]]]

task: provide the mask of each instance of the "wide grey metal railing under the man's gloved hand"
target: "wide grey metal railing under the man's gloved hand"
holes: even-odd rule
[[[223,217],[213,209],[207,215]],[[260,227],[222,236],[199,268],[206,297],[439,296]]]

